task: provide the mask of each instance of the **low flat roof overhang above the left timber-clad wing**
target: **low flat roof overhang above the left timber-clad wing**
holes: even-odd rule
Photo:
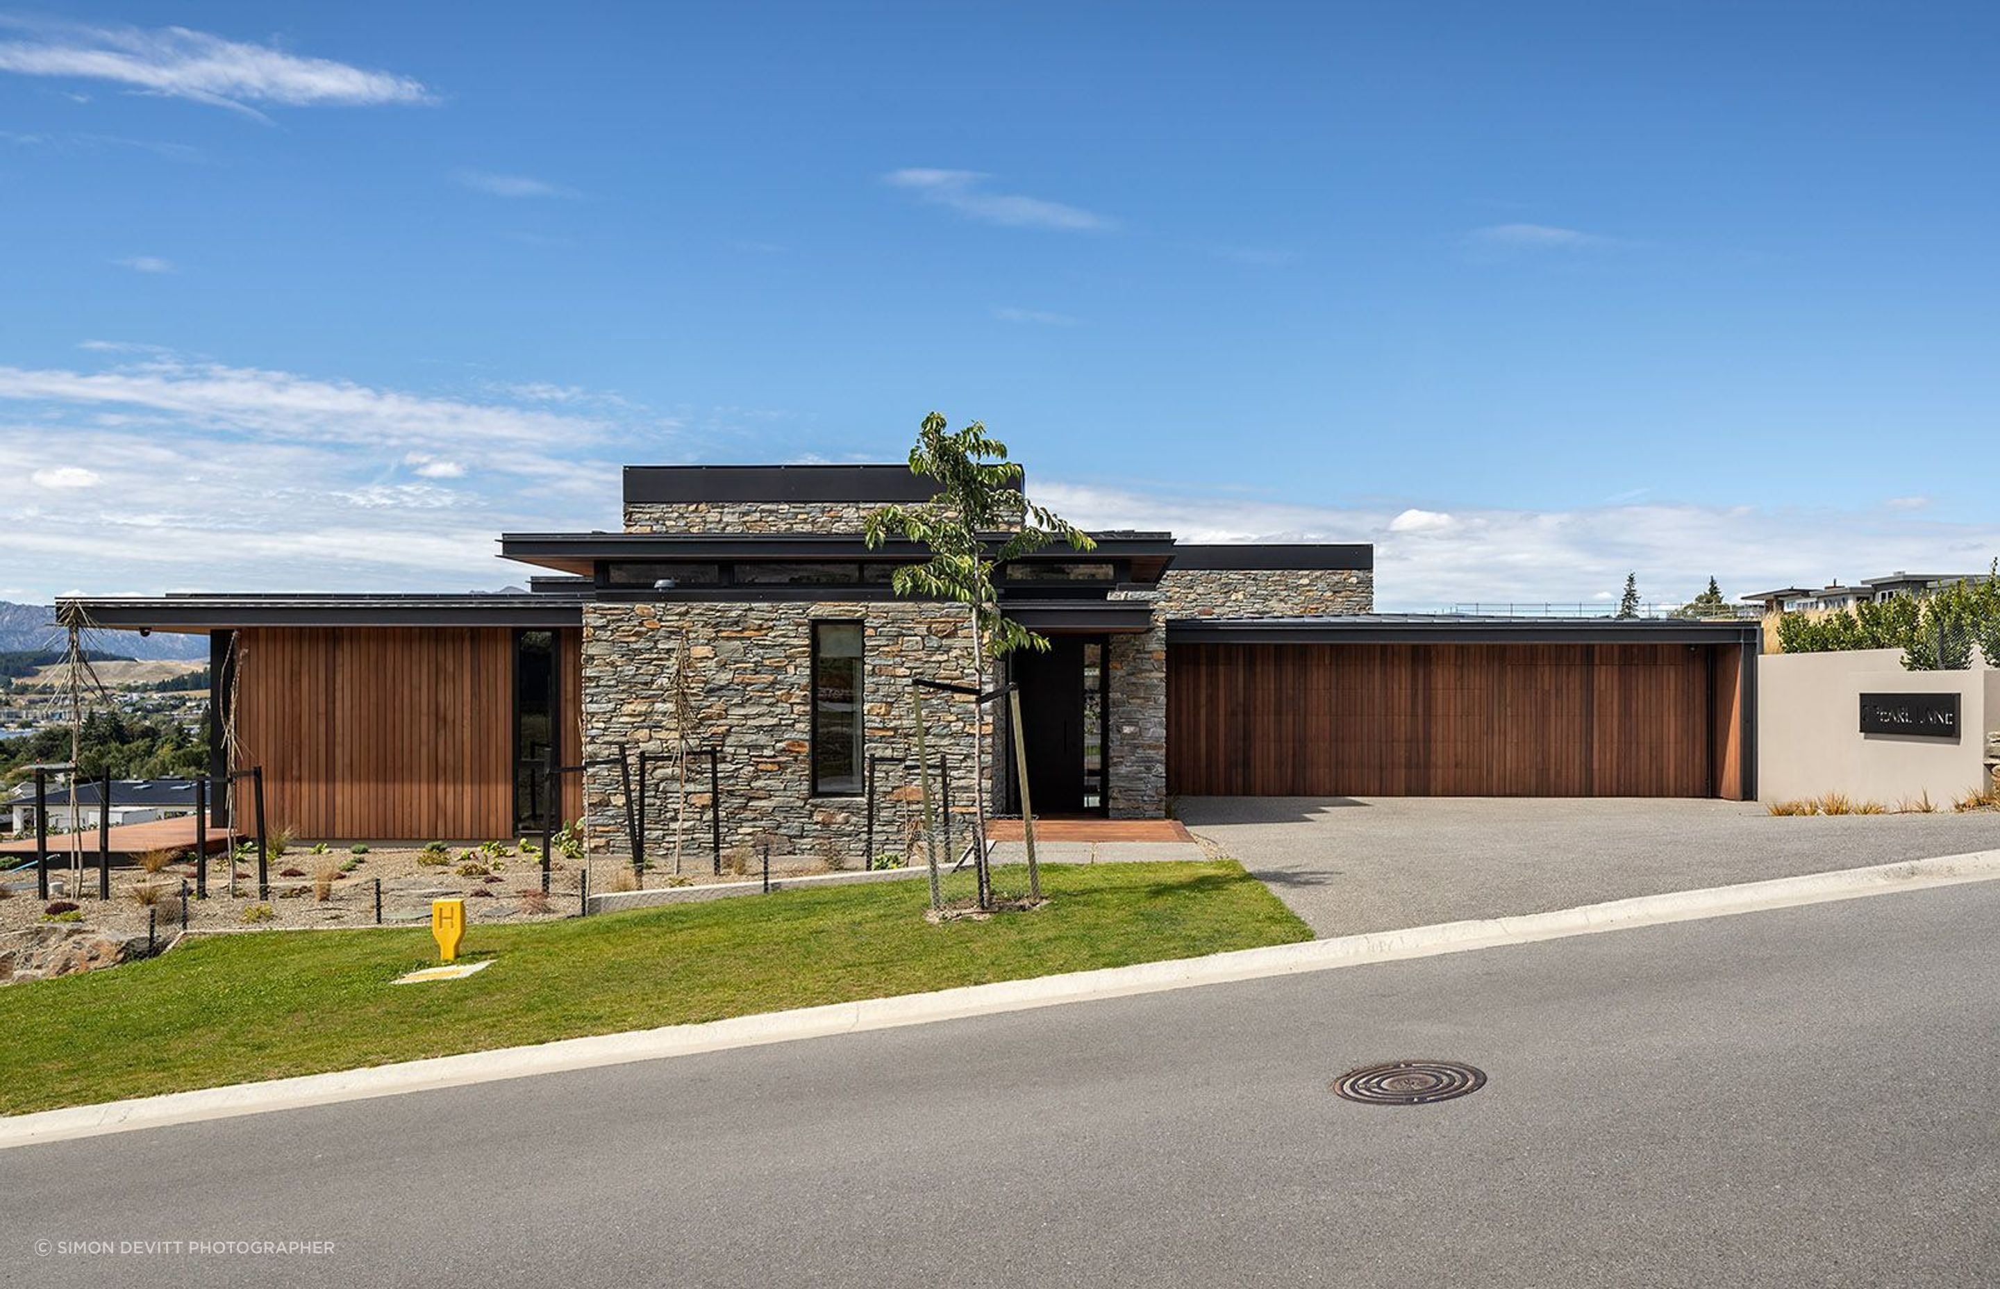
[[[528,594],[166,594],[68,596],[110,630],[206,632],[236,626],[582,626],[584,600]]]

